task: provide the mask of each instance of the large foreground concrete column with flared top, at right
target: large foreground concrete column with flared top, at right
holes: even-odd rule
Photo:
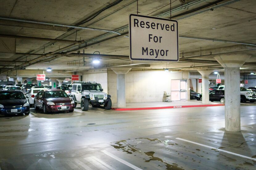
[[[240,131],[240,67],[250,59],[249,54],[214,57],[225,68],[225,130]]]

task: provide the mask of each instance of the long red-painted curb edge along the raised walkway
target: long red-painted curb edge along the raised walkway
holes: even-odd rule
[[[173,109],[173,108],[186,108],[186,107],[209,107],[209,106],[224,106],[224,104],[205,104],[205,105],[187,105],[187,106],[165,106],[165,107],[142,107],[142,108],[111,108],[117,111],[127,110],[155,110],[155,109]]]

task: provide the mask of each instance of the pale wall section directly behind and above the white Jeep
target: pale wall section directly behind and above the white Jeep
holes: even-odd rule
[[[82,75],[82,81],[85,82],[97,82],[101,84],[103,92],[108,93],[108,73],[86,73]],[[111,95],[111,94],[110,94]]]

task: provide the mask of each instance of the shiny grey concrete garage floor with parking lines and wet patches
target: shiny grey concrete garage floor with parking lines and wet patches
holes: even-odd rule
[[[243,156],[256,158],[256,106],[241,106],[237,133],[225,132],[224,109],[0,116],[0,169],[255,169]]]

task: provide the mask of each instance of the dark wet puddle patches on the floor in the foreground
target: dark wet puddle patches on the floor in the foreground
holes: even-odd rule
[[[169,144],[169,140],[165,140],[165,141],[161,141],[157,138],[154,139],[150,139],[150,138],[139,138],[139,139],[146,139],[150,142],[152,141],[157,141],[158,143],[163,143],[164,145],[178,145],[178,144]],[[130,139],[129,139],[130,140]],[[135,140],[138,140],[137,138]],[[111,146],[113,146],[115,149],[120,150],[122,152],[126,152],[128,154],[134,154],[134,156],[136,156],[136,154],[141,154],[141,155],[147,155],[148,159],[145,159],[145,162],[151,162],[151,161],[159,161],[161,162],[163,165],[165,165],[165,169],[167,170],[183,170],[183,168],[178,167],[178,164],[172,163],[172,164],[168,164],[166,161],[164,161],[163,159],[154,156],[155,152],[154,151],[150,151],[150,152],[142,152],[139,148],[136,148],[135,145],[130,145],[128,143],[129,141],[126,140],[122,140],[122,141],[118,141],[115,142],[114,144],[112,144]],[[137,141],[137,143],[140,143],[141,141]],[[159,164],[158,167],[163,167],[163,165]]]

